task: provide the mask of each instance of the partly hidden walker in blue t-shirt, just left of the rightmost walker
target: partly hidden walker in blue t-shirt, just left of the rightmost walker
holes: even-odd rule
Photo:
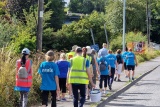
[[[127,54],[128,54],[128,48],[126,47],[125,52],[122,53],[122,57],[123,57],[123,61],[124,61],[124,64],[123,64],[124,73],[126,75],[126,78],[128,77],[128,69],[127,69],[127,65],[126,65],[126,61],[127,61],[126,56],[127,56]]]

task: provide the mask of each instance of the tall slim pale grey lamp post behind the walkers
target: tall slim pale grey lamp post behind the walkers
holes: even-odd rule
[[[125,51],[125,30],[126,30],[126,0],[123,0],[123,52]]]

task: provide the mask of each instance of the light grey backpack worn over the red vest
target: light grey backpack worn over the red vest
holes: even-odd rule
[[[18,69],[18,78],[20,78],[20,79],[27,78],[30,69],[31,69],[31,63],[29,65],[28,71],[24,65],[21,65],[21,67]]]

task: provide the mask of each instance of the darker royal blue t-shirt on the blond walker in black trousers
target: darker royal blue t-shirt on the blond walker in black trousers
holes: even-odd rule
[[[68,73],[68,68],[70,68],[70,63],[65,60],[59,60],[56,62],[58,65],[60,75],[58,76],[59,78],[67,78],[67,73]]]

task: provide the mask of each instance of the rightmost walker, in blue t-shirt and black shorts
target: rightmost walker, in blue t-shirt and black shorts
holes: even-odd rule
[[[128,77],[129,77],[129,81],[131,81],[130,78],[130,72],[132,71],[132,81],[134,80],[134,71],[135,71],[135,66],[138,65],[137,59],[135,54],[132,52],[132,49],[129,48],[129,52],[126,55],[126,65],[127,65],[127,69],[128,69]]]

